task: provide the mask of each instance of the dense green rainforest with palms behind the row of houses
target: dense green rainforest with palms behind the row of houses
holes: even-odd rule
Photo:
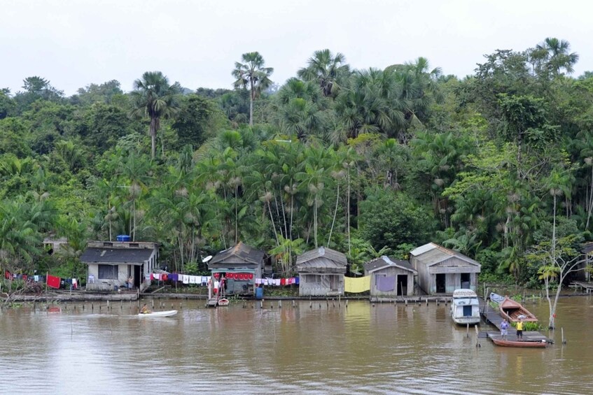
[[[1,266],[84,278],[87,240],[128,234],[184,273],[239,240],[279,273],[320,245],[356,271],[432,241],[537,286],[593,239],[593,73],[571,76],[568,42],[496,50],[463,79],[319,50],[279,86],[263,55],[237,58],[232,89],[160,71],[131,92],[1,89]]]

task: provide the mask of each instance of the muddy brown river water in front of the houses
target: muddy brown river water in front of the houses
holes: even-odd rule
[[[592,296],[559,301],[545,332],[555,344],[540,350],[475,347],[443,303],[161,303],[179,313],[139,318],[136,302],[1,310],[0,394],[593,393]],[[546,301],[526,307],[547,324]]]

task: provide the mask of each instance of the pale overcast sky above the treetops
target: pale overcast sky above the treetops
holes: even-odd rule
[[[108,80],[124,91],[144,71],[183,87],[232,88],[244,52],[258,51],[282,85],[315,50],[356,69],[419,56],[463,78],[484,54],[546,37],[593,71],[593,2],[585,0],[1,0],[0,88],[41,76],[65,94]]]

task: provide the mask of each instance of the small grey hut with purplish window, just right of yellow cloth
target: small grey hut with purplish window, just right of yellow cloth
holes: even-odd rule
[[[414,270],[409,261],[386,257],[365,264],[365,275],[370,275],[370,296],[412,296]]]

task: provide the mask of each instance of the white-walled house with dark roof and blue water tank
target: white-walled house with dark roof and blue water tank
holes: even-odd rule
[[[81,256],[88,265],[88,291],[127,287],[144,291],[151,285],[151,273],[158,268],[158,243],[144,241],[89,241]],[[132,286],[130,285],[130,287]]]

